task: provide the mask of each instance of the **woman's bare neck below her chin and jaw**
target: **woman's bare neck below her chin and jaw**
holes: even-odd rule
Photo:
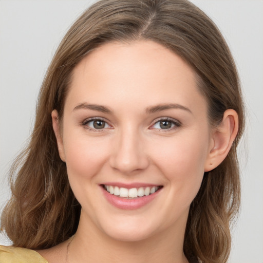
[[[123,241],[103,233],[82,213],[78,231],[68,248],[68,262],[186,263],[183,254],[185,223],[143,240]]]

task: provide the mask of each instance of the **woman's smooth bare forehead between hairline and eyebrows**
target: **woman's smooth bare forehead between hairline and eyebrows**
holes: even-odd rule
[[[109,107],[160,103],[193,107],[198,100],[206,104],[194,70],[152,41],[107,43],[93,50],[74,68],[67,97],[72,103]]]

